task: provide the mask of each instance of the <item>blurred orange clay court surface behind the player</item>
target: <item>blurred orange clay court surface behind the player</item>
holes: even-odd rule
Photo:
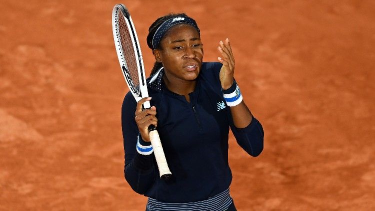
[[[1,211],[144,211],[146,198],[123,177],[128,89],[113,44],[115,3],[1,1]],[[230,136],[239,211],[375,209],[374,1],[122,3],[147,75],[145,39],[158,16],[194,17],[205,61],[229,37],[235,78],[265,132],[256,158]]]

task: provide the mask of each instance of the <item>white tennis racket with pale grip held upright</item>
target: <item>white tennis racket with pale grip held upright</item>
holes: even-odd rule
[[[112,10],[112,31],[118,61],[123,77],[131,94],[138,102],[148,97],[144,66],[138,37],[129,11],[123,4],[116,4]],[[143,103],[143,109],[149,109],[149,101]],[[160,178],[168,179],[172,174],[166,163],[159,134],[154,125],[148,127],[149,138],[156,158]]]

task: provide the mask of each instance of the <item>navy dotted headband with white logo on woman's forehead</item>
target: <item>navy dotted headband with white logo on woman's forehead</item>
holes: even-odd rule
[[[190,24],[192,25],[194,28],[196,28],[196,30],[198,31],[198,33],[200,34],[200,31],[199,31],[199,28],[198,26],[196,25],[196,22],[194,19],[190,18],[190,17],[172,17],[172,18],[169,18],[167,20],[165,20],[155,31],[155,33],[153,34],[153,37],[152,37],[152,47],[153,49],[159,47],[160,45],[160,41],[161,39],[163,38],[165,32],[170,28],[172,27],[173,25],[176,25],[176,24],[179,24],[179,23],[187,23],[187,24]]]

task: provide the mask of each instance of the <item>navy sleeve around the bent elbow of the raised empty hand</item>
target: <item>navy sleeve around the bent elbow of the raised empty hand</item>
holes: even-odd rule
[[[229,111],[230,112],[230,111]],[[260,122],[252,117],[251,122],[245,128],[236,128],[230,115],[230,130],[238,145],[247,152],[247,154],[256,157],[263,150],[264,132]]]

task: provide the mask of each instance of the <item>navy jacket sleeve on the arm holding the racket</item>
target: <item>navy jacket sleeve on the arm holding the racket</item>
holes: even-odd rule
[[[154,156],[141,155],[137,152],[137,141],[139,136],[138,127],[135,123],[136,101],[128,92],[123,100],[121,108],[121,126],[123,137],[123,148],[125,152],[124,175],[127,183],[136,193],[144,195],[155,181]],[[149,143],[141,140],[141,145]]]

